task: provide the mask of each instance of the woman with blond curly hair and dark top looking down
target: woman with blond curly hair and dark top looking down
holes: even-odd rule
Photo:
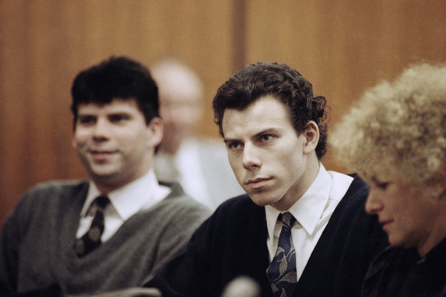
[[[390,247],[363,296],[446,296],[446,65],[406,69],[367,91],[331,144],[370,185]]]

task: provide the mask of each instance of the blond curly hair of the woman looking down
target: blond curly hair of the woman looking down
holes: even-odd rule
[[[446,160],[446,64],[420,64],[366,91],[330,136],[350,169],[429,185]]]

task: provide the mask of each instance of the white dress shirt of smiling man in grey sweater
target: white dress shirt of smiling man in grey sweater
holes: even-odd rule
[[[158,184],[153,169],[144,176],[107,194],[110,203],[104,209],[104,232],[101,241],[107,241],[121,225],[140,210],[148,209],[161,201],[170,193],[170,188]],[[90,181],[87,198],[80,214],[76,238],[81,238],[90,229],[95,210],[91,210],[91,202],[101,193]]]

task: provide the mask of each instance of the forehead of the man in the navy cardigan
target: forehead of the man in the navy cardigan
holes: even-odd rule
[[[223,113],[225,137],[249,136],[271,128],[294,130],[288,108],[271,95],[260,97],[242,111],[226,109]]]

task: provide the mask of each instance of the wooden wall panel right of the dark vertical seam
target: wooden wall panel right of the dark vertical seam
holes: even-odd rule
[[[285,62],[326,96],[330,126],[410,63],[446,62],[444,0],[248,1],[248,62]],[[346,172],[329,151],[328,169]]]

